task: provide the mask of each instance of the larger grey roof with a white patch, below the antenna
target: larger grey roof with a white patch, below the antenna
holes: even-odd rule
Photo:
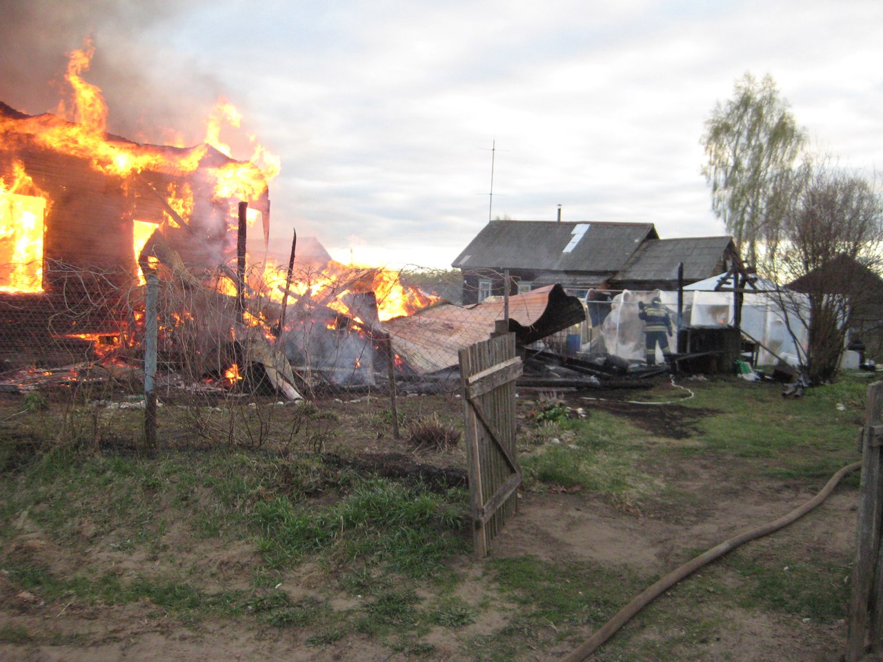
[[[614,273],[658,237],[653,223],[491,221],[451,266]]]

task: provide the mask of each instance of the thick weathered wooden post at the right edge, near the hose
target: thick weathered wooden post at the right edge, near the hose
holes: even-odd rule
[[[880,651],[881,585],[880,514],[883,504],[883,481],[880,477],[880,449],[883,440],[883,382],[868,387],[862,431],[862,478],[858,494],[856,527],[856,564],[852,568],[852,598],[849,600],[849,626],[846,662],[858,662],[871,645]],[[872,607],[878,607],[872,613]]]

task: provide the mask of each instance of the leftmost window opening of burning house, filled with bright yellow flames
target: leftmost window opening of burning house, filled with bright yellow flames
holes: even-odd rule
[[[46,200],[0,190],[0,291],[42,292]]]

